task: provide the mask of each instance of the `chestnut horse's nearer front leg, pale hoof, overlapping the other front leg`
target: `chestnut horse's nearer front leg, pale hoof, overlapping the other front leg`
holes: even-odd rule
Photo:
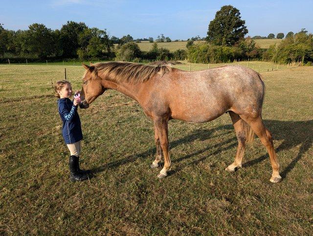
[[[166,118],[155,118],[154,124],[156,127],[158,139],[163,151],[164,155],[164,166],[160,173],[158,174],[159,179],[163,179],[167,176],[167,172],[171,170],[171,159],[168,151],[168,130],[167,130],[167,122]]]

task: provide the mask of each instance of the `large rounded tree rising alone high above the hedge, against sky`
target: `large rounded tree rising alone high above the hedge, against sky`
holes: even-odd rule
[[[245,23],[237,8],[222,6],[209,24],[206,40],[215,45],[233,46],[248,33]]]

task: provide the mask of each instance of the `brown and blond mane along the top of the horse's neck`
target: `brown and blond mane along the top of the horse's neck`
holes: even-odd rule
[[[102,77],[115,82],[130,82],[143,83],[151,77],[159,73],[163,76],[164,73],[172,71],[168,65],[165,66],[148,66],[130,62],[99,62],[93,65],[94,70],[92,77],[101,73]]]

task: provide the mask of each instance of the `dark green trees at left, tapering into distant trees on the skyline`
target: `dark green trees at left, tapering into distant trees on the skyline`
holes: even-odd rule
[[[0,24],[0,57],[27,58],[28,60],[57,60],[57,59],[100,59],[108,60],[115,57],[114,44],[120,48],[129,42],[149,41],[136,39],[131,35],[122,38],[109,37],[106,29],[88,27],[83,22],[67,21],[61,29],[52,30],[45,24],[31,24],[27,30],[8,30]],[[163,34],[156,42],[171,42]]]

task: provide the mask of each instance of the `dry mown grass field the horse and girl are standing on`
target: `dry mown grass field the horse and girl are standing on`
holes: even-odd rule
[[[80,89],[83,68],[66,68]],[[263,118],[281,164],[279,184],[269,182],[259,139],[247,147],[242,169],[224,171],[237,145],[227,114],[202,124],[170,121],[173,167],[158,180],[160,169],[149,168],[153,123],[116,91],[79,110],[82,167],[94,176],[71,183],[51,88],[63,76],[64,66],[0,65],[1,235],[313,234],[313,67],[262,72]]]

